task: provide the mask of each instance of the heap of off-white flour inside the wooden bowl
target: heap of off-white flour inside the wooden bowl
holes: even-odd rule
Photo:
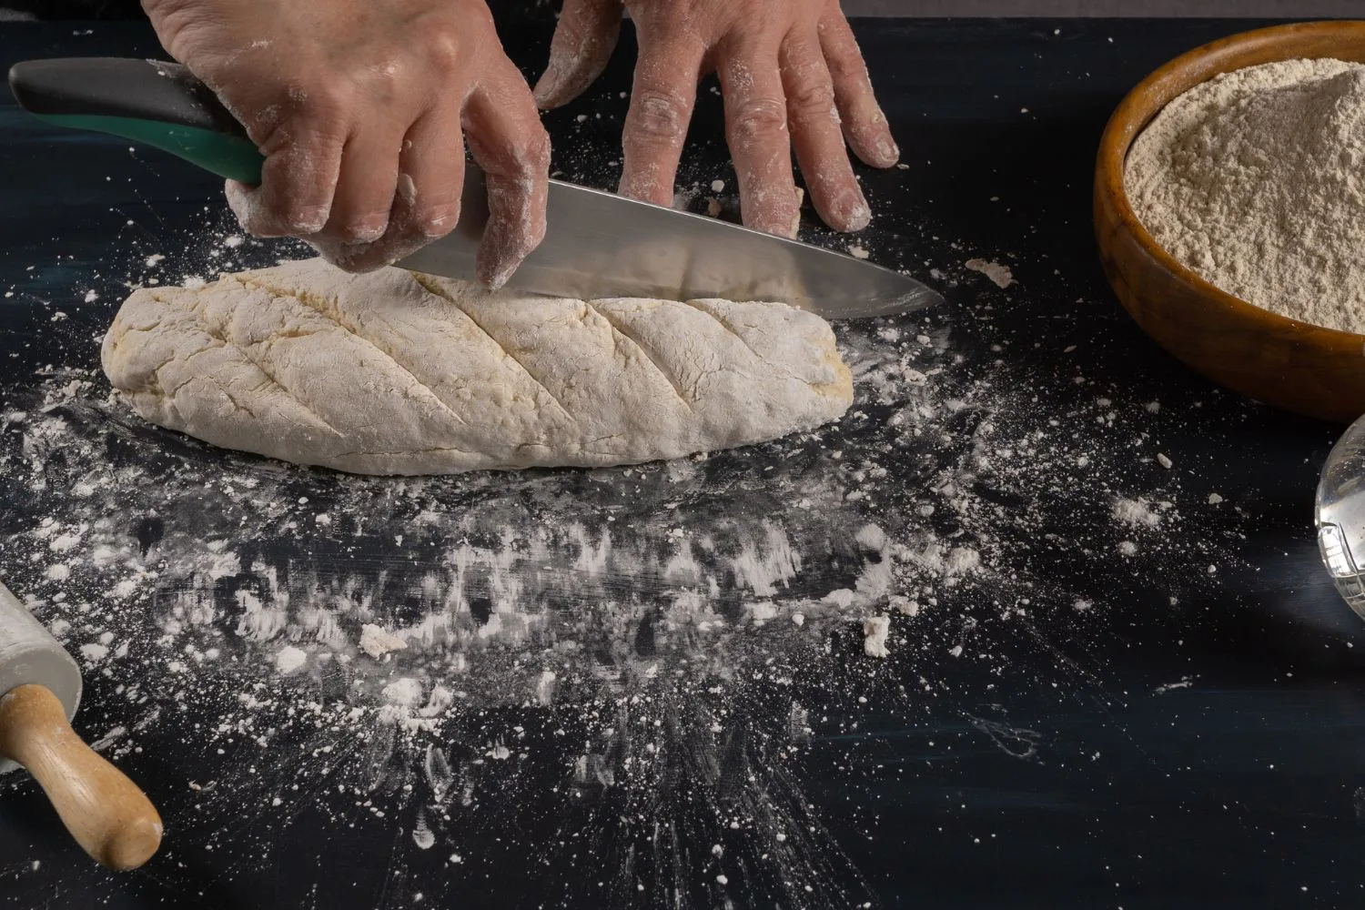
[[[1365,65],[1224,74],[1162,111],[1125,184],[1143,225],[1218,288],[1365,333]]]

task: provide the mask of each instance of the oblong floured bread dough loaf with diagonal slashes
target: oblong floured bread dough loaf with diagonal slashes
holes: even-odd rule
[[[830,326],[785,304],[586,303],[321,259],[135,291],[102,360],[162,427],[378,475],[677,458],[853,398]]]

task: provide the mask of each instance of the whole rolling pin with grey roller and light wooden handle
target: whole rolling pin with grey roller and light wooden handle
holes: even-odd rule
[[[161,846],[161,816],[71,730],[81,667],[0,584],[0,774],[20,765],[90,857],[136,869]]]

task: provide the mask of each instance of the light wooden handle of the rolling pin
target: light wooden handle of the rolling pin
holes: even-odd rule
[[[0,697],[0,759],[29,769],[96,862],[136,869],[161,846],[152,801],[71,730],[46,688],[18,686]]]

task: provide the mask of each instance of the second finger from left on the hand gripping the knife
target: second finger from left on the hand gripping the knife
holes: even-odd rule
[[[389,229],[399,187],[403,132],[390,124],[356,128],[341,150],[337,190],[324,233],[343,241],[373,243]]]

